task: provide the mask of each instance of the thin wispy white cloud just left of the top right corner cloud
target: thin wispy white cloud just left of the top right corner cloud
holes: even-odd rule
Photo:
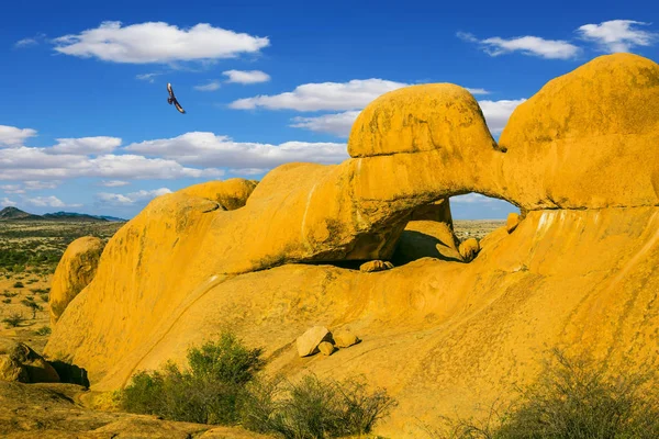
[[[576,57],[580,48],[562,40],[545,40],[539,36],[518,36],[502,38],[493,36],[478,40],[472,34],[458,32],[457,36],[469,43],[477,43],[491,56],[521,52],[524,55],[534,55],[547,59],[570,59]]]

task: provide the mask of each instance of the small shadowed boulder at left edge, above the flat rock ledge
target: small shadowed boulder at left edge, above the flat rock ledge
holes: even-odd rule
[[[56,383],[59,382],[59,375],[29,346],[9,338],[0,338],[0,381]]]

